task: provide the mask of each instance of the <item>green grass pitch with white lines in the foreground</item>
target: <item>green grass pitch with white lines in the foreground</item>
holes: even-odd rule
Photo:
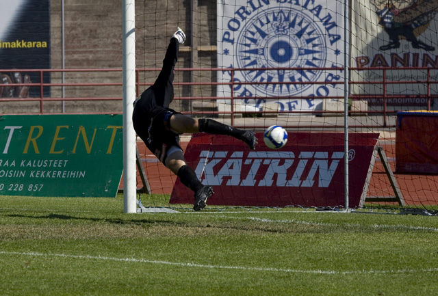
[[[438,295],[438,221],[1,196],[0,267],[0,295]]]

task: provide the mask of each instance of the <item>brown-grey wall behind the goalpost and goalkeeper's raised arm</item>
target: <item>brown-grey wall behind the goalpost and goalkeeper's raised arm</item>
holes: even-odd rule
[[[194,10],[191,5],[194,3]],[[122,68],[122,4],[120,0],[64,0],[65,12],[65,67],[67,69]],[[190,20],[194,18],[194,27]],[[216,51],[194,51],[193,42],[205,49],[216,45],[216,1],[213,0],[141,0],[136,1],[136,66],[161,68],[170,36],[177,27],[187,34],[181,46],[177,68],[216,67]],[[192,31],[194,34],[192,34]],[[204,47],[203,47],[204,46]],[[62,2],[51,1],[51,65],[62,68]],[[157,72],[144,72],[140,82],[152,83]],[[211,72],[177,72],[175,82],[209,82],[216,74]],[[66,83],[121,83],[121,72],[68,72]],[[52,83],[60,83],[60,73],[52,75]],[[66,98],[72,97],[122,97],[120,85],[66,87]],[[211,96],[211,87],[175,88],[176,96]],[[61,88],[52,88],[52,97],[61,97]],[[176,102],[176,100],[175,100]],[[60,111],[61,103],[47,103],[44,110]],[[179,108],[181,106],[172,106]],[[65,102],[66,112],[72,111],[122,111],[120,101]]]

